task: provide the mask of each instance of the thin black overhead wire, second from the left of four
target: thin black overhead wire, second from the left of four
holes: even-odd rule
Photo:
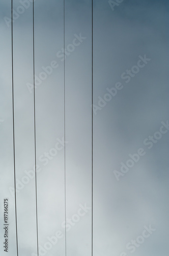
[[[33,0],[33,72],[34,72],[34,144],[35,144],[35,190],[36,190],[36,229],[37,229],[37,252],[38,247],[38,203],[37,203],[37,167],[36,167],[36,112],[35,112],[35,32],[34,32],[34,0]]]

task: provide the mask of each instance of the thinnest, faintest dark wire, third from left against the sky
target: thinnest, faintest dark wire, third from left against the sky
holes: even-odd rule
[[[65,0],[63,5],[64,18],[64,49],[65,49]],[[66,115],[65,115],[65,60],[64,60],[64,140],[66,141]],[[64,169],[65,169],[65,223],[66,223],[66,146],[64,147]],[[67,255],[66,225],[65,225],[65,255]]]

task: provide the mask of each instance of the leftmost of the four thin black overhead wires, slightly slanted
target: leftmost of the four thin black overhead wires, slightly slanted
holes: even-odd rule
[[[13,152],[14,152],[14,187],[15,187],[15,223],[16,223],[16,251],[18,256],[18,231],[17,231],[17,207],[16,207],[16,172],[15,172],[15,122],[14,122],[14,71],[13,71],[13,0],[11,0],[12,18],[12,112],[13,112]]]

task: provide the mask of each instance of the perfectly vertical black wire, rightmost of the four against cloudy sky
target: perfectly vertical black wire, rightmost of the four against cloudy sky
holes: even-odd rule
[[[93,0],[92,0],[92,256],[93,256]]]

